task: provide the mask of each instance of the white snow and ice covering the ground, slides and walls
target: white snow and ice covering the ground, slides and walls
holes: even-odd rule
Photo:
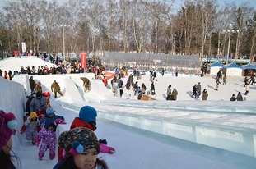
[[[35,57],[0,61],[2,71],[19,71],[21,66],[44,65],[51,66]],[[247,169],[256,166],[256,87],[250,86],[246,102],[230,102],[232,94],[236,96],[239,91],[244,94],[244,77],[228,77],[227,85],[220,85],[219,91],[216,91],[216,80],[212,75],[201,78],[193,75],[175,77],[159,74],[158,81],[155,81],[156,95],[153,96],[156,101],[142,101],[135,96],[129,100],[115,97],[109,86],[105,88],[100,80],[91,80],[91,91],[84,94],[80,77],[91,79],[92,74],[33,76],[36,82],[42,83],[43,91],[51,93],[50,85],[54,80],[57,80],[62,89],[64,97],[52,97],[50,100],[55,113],[64,116],[67,121],[67,125],[58,127],[57,135],[69,129],[81,106],[91,105],[96,108],[98,129],[95,133],[99,139],[107,139],[109,146],[116,149],[113,155],[99,155],[105,159],[110,169]],[[13,81],[18,83],[0,79],[0,94],[3,96],[0,98],[0,108],[16,113],[20,121],[17,130],[22,125],[26,100],[23,87],[28,87],[28,78],[27,75],[17,75]],[[127,80],[126,77],[123,82],[126,83]],[[142,75],[142,79],[137,81],[140,86],[145,83],[147,89],[150,89],[149,75]],[[202,89],[208,91],[207,101],[191,98],[193,85],[198,82],[201,82]],[[179,92],[176,102],[165,101],[168,85]],[[163,128],[164,125],[168,127]],[[189,131],[191,129],[193,130]],[[24,135],[17,134],[14,140],[13,150],[21,159],[21,168],[52,168],[57,163],[57,158],[49,160],[49,152],[39,161],[39,148],[27,142]],[[212,146],[207,146],[209,144]],[[223,148],[213,148],[221,147],[221,144]]]

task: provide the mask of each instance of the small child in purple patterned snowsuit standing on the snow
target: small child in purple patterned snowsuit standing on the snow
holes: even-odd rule
[[[44,157],[44,153],[46,152],[47,148],[49,148],[49,158],[53,160],[55,157],[55,147],[57,143],[56,138],[56,124],[54,121],[46,119],[44,128],[40,130],[38,135],[35,136],[35,145],[39,146],[40,141],[42,140],[42,144],[40,146],[40,151],[38,153],[39,160],[42,160]]]

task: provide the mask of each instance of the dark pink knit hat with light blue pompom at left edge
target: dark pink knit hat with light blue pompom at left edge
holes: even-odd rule
[[[16,116],[12,112],[6,113],[0,110],[0,151],[15,133],[16,125]]]

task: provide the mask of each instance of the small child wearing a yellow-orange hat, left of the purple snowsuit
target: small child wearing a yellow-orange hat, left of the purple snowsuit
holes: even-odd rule
[[[21,135],[25,132],[26,139],[28,141],[32,141],[32,144],[35,145],[35,136],[41,130],[40,121],[38,120],[38,116],[35,112],[31,112],[30,116],[24,122],[21,127]]]

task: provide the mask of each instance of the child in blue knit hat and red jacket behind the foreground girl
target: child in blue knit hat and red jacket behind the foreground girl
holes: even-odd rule
[[[96,117],[97,112],[94,107],[91,106],[84,106],[81,107],[79,111],[79,117],[75,117],[75,119],[72,121],[72,124],[70,126],[70,129],[74,129],[77,127],[86,127],[87,129],[95,131],[97,129],[96,127]],[[114,153],[114,148],[109,147],[106,145],[107,141],[105,139],[100,139],[100,152],[101,153]],[[58,160],[61,160],[63,158],[63,149],[58,149]]]

